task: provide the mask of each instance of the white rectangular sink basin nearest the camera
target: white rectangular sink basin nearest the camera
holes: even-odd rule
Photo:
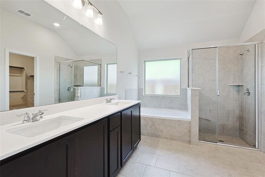
[[[13,133],[24,137],[35,137],[52,130],[70,125],[72,123],[83,120],[84,118],[59,116],[52,119],[36,121],[24,126],[6,130],[6,132]]]

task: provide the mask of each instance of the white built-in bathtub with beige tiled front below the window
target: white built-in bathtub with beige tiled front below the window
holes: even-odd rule
[[[190,142],[191,118],[188,110],[141,107],[141,134]]]

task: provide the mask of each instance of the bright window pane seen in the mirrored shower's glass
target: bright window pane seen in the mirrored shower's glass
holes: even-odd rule
[[[84,66],[84,87],[98,86],[98,66]]]

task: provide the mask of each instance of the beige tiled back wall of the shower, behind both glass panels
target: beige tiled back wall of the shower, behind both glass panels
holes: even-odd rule
[[[199,95],[199,132],[216,135],[216,48],[192,51]],[[239,137],[239,47],[218,48],[219,135]]]

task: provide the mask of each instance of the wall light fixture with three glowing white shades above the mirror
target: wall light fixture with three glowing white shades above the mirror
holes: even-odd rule
[[[94,9],[98,12],[97,18],[96,18],[96,24],[102,25],[102,13],[95,7],[91,2],[88,0],[74,0],[73,6],[76,9],[82,9],[82,7],[85,6],[85,1],[88,2],[87,8],[86,8],[86,17],[93,18],[94,17]]]

